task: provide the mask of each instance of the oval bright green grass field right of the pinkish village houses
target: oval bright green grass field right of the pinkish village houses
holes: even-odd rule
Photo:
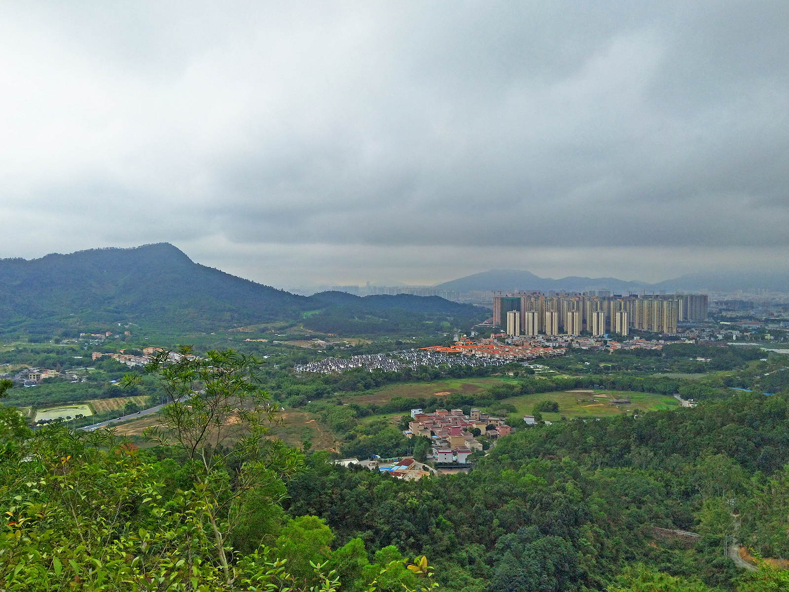
[[[630,398],[630,404],[610,405],[611,399]],[[585,399],[585,400],[581,400]],[[559,403],[559,413],[544,413],[543,419],[549,422],[558,421],[562,415],[569,418],[605,418],[635,410],[656,411],[664,409],[680,409],[674,397],[655,395],[645,392],[604,391],[594,392],[543,392],[534,395],[520,395],[503,399],[502,403],[510,403],[518,410],[518,414],[530,415],[532,408],[539,401],[555,401]]]

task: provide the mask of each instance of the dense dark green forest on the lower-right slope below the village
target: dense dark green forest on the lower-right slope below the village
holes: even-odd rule
[[[468,475],[398,481],[316,452],[284,505],[323,518],[337,545],[426,553],[450,590],[602,590],[633,564],[733,590],[732,535],[789,556],[787,433],[787,395],[743,393],[521,430]],[[701,536],[657,541],[653,527]]]

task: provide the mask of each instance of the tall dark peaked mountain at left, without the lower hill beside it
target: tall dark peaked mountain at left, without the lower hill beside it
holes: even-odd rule
[[[91,323],[174,332],[294,317],[307,298],[196,264],[173,245],[0,260],[0,327],[51,333]]]

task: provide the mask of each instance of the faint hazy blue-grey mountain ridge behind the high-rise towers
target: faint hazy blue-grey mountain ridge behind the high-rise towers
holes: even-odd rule
[[[466,275],[435,286],[439,290],[566,290],[582,292],[589,289],[611,290],[615,294],[636,292],[672,292],[710,290],[713,292],[735,292],[753,288],[789,293],[789,272],[700,272],[666,279],[659,283],[616,278],[588,278],[570,275],[566,278],[540,278],[532,272],[517,269],[492,269],[488,272]]]

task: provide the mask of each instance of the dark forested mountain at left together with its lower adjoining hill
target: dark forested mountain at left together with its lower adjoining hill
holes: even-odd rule
[[[337,292],[305,298],[197,264],[167,243],[0,260],[0,332],[5,334],[22,331],[49,339],[64,328],[84,331],[129,322],[171,334],[211,332],[301,319],[306,311],[320,311],[310,317],[312,323],[335,333],[365,332],[369,323],[382,332],[407,331],[436,315],[439,322],[479,316],[478,309],[443,298]],[[346,324],[347,318],[353,322]]]

